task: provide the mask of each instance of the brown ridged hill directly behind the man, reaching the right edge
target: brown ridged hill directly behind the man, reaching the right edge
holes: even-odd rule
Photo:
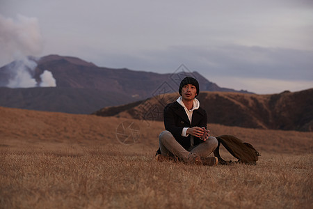
[[[177,93],[96,111],[98,116],[120,116],[144,121],[162,121],[163,107],[175,101]],[[209,123],[273,130],[313,131],[313,88],[273,95],[200,92],[200,105]],[[271,136],[268,136],[271,137]]]

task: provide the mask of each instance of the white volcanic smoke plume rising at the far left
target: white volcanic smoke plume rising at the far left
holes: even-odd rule
[[[43,38],[37,18],[17,15],[13,20],[0,15],[0,64],[15,61],[6,68],[7,87],[56,86],[52,73],[47,70],[40,75],[41,82],[34,79],[37,63],[29,59],[29,55],[40,54],[42,49]]]

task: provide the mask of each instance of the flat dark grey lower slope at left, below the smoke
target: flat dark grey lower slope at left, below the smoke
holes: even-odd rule
[[[1,88],[0,106],[70,114],[135,101],[127,95],[89,88]]]

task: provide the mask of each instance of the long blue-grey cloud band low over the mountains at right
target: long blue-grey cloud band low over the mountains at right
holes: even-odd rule
[[[133,55],[104,53],[102,57],[102,63],[118,68],[150,68],[153,71],[169,72],[175,70],[179,64],[185,63],[194,70],[209,71],[215,75],[313,80],[313,52],[296,49],[238,45],[172,46],[164,50],[143,51]]]

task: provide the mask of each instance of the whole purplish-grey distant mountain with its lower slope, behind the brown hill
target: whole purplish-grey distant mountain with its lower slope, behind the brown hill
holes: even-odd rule
[[[29,60],[37,63],[33,70],[26,67],[35,81],[39,84],[40,75],[48,70],[56,81],[56,87],[1,88],[0,106],[90,114],[102,107],[176,92],[180,80],[186,75],[199,80],[201,91],[235,91],[209,82],[198,72],[189,72],[184,65],[173,73],[159,74],[127,68],[100,68],[70,56],[49,55],[40,59],[29,57]],[[0,68],[0,87],[8,85],[14,77],[12,68],[20,65],[15,61]]]

